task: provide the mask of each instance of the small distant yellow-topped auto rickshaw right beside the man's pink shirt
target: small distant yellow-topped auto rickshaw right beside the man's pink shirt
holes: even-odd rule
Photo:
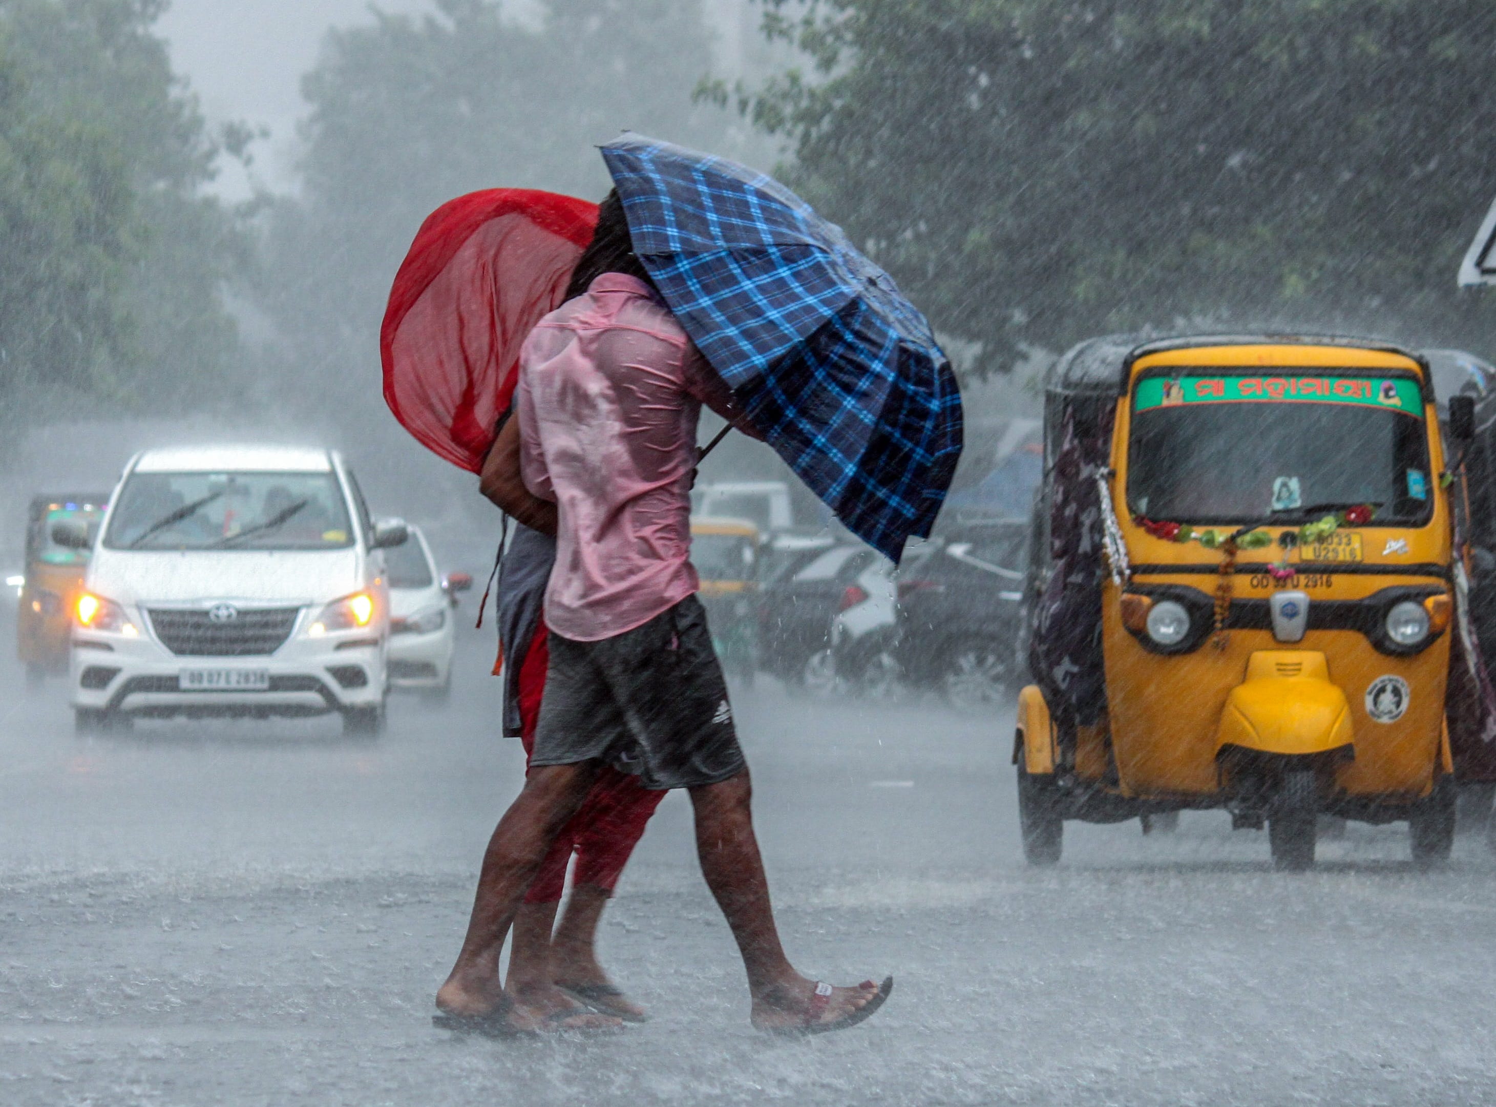
[[[748,519],[691,516],[691,564],[723,672],[752,684],[758,667],[754,594],[758,591],[758,527]]]

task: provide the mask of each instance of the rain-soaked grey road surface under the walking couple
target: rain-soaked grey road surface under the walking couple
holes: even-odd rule
[[[446,708],[156,723],[78,739],[58,684],[0,667],[0,1103],[1448,1104],[1496,1101],[1496,865],[1414,871],[1352,824],[1319,871],[1186,814],[1019,856],[1011,709],[739,691],[791,957],[898,977],[865,1026],[754,1034],[672,796],[603,927],[654,1011],[591,1038],[429,1023],[519,743],[486,639]]]

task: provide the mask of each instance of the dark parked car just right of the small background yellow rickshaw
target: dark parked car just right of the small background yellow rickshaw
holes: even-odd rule
[[[881,559],[860,543],[821,551],[805,564],[787,562],[758,589],[758,667],[793,688],[820,687],[832,621],[860,603],[857,576]]]

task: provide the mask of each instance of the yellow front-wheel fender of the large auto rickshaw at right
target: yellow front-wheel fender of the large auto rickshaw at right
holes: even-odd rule
[[[1324,654],[1260,649],[1248,658],[1246,681],[1231,690],[1221,712],[1222,748],[1303,757],[1354,749],[1351,705],[1330,684]]]

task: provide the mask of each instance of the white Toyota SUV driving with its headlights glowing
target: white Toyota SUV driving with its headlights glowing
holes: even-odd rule
[[[73,524],[54,540],[88,546]],[[133,717],[319,715],[384,724],[389,597],[374,527],[331,450],[136,455],[111,498],[72,633],[82,732]]]

